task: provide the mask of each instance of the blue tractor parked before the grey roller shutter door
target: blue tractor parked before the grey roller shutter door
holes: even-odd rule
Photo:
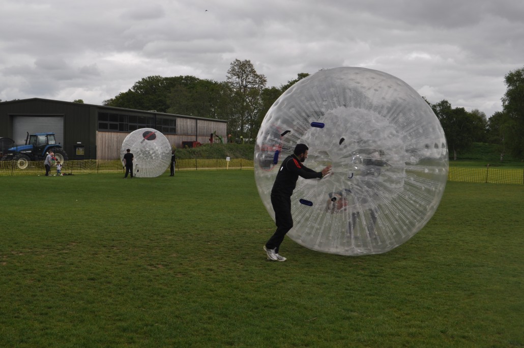
[[[46,158],[47,153],[54,153],[54,158],[62,164],[68,156],[54,137],[54,133],[27,133],[26,145],[7,149],[2,157],[3,161],[15,160],[20,169],[26,169],[29,161],[39,161]]]

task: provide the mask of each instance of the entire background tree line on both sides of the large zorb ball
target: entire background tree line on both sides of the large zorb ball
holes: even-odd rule
[[[235,59],[227,70],[226,81],[155,75],[137,81],[131,89],[103,104],[224,119],[233,139],[253,142],[271,105],[294,83],[308,76],[299,73],[285,85],[268,87],[266,77],[256,72],[251,61]],[[504,81],[507,90],[501,98],[503,110],[489,118],[478,109],[453,107],[447,100],[435,104],[426,100],[439,118],[454,159],[474,142],[497,144],[501,160],[507,153],[524,157],[524,67],[510,71]]]

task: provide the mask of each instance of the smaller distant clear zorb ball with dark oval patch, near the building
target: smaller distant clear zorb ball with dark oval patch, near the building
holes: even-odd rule
[[[120,159],[130,149],[133,175],[139,178],[155,178],[171,164],[171,144],[165,135],[152,128],[140,128],[129,133],[120,149]]]

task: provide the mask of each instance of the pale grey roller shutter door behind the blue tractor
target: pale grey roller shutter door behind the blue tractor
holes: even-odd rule
[[[27,132],[55,134],[57,143],[64,144],[64,117],[63,116],[14,116],[13,140],[16,145],[26,143]]]

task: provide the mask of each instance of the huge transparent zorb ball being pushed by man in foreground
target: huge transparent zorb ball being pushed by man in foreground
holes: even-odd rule
[[[323,179],[291,198],[292,240],[340,255],[385,253],[431,219],[444,192],[447,146],[431,107],[408,84],[365,68],[321,70],[271,106],[256,139],[255,179],[273,219],[271,188],[295,145]]]

